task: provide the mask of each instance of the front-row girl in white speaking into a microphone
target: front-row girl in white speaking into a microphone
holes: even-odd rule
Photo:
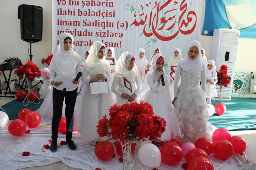
[[[163,71],[159,71],[159,69],[162,69]],[[161,75],[164,76],[164,86],[160,80]],[[170,80],[164,72],[164,57],[162,55],[156,54],[153,56],[152,66],[146,78],[149,88],[140,94],[139,101],[145,101],[151,104],[154,114],[164,118],[166,121],[165,132],[159,139],[162,141],[169,141],[172,138],[181,137],[178,119],[172,111],[169,91]],[[159,146],[157,141],[153,141],[153,144]]]

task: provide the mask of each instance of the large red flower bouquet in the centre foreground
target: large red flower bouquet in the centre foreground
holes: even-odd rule
[[[166,127],[164,118],[155,116],[152,106],[143,101],[122,106],[114,104],[109,109],[109,116],[109,119],[105,115],[99,120],[97,132],[100,137],[112,137],[122,142],[131,134],[135,135],[138,141],[146,141],[147,138],[157,140]]]

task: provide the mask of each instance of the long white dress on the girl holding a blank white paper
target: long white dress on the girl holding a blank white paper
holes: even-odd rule
[[[111,81],[110,70],[103,72],[103,74],[107,77],[108,93],[91,94],[91,86],[89,82],[94,76],[87,78],[88,75],[83,74],[81,78],[81,81],[85,86],[80,92],[81,98],[77,99],[75,111],[79,110],[79,112],[81,112],[81,118],[77,118],[81,120],[80,135],[88,141],[100,141],[96,126],[104,115],[109,115],[108,109],[115,103],[109,85],[109,82]],[[103,81],[105,80],[100,80],[100,82]],[[79,115],[80,114],[78,114],[78,116]]]

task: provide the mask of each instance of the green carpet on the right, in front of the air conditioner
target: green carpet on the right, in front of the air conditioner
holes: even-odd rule
[[[216,100],[212,103],[215,106],[220,103]],[[253,128],[253,118],[256,116],[256,98],[235,98],[230,101],[224,100],[227,108],[223,115],[218,115],[216,112],[212,115],[208,122],[212,123],[217,128],[225,128],[228,130],[251,130]]]

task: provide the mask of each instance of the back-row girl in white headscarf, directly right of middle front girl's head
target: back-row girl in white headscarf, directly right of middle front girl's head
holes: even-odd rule
[[[145,72],[145,69],[147,67],[148,60],[146,59],[145,55],[146,51],[143,48],[139,48],[137,50],[137,54],[135,56],[135,64],[140,72],[140,78],[142,74]]]

